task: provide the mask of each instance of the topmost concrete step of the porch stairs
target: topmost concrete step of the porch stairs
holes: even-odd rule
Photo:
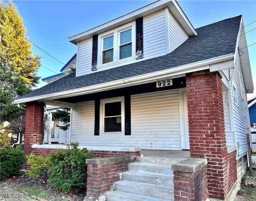
[[[154,163],[154,164],[165,164],[172,165],[176,164],[182,160],[186,160],[187,158],[154,158],[154,157],[137,157],[136,161],[143,163]]]

